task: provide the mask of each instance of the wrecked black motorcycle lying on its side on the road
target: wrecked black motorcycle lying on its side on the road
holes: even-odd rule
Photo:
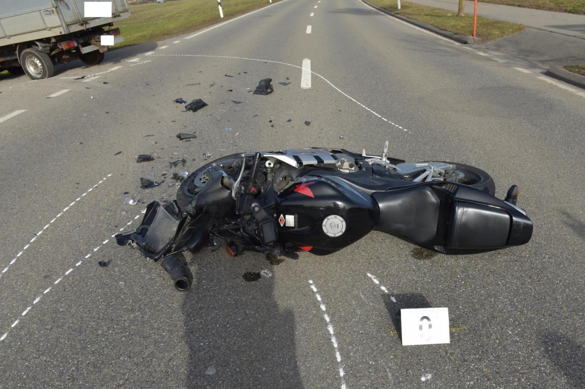
[[[187,176],[176,200],[150,203],[140,226],[116,235],[161,266],[177,290],[192,276],[179,253],[225,246],[230,256],[328,255],[376,230],[448,255],[526,244],[532,221],[518,187],[494,197],[493,179],[455,162],[305,148],[228,155]]]

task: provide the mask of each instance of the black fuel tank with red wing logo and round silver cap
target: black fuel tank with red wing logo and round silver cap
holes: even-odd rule
[[[288,246],[327,255],[367,235],[378,206],[335,176],[303,176],[278,194],[278,236]]]

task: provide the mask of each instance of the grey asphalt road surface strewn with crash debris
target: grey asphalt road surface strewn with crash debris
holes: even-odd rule
[[[357,0],[286,0],[109,58],[0,82],[0,118],[26,110],[0,123],[0,387],[584,387],[583,91]],[[249,93],[266,77],[273,94]],[[176,98],[209,106],[183,112]],[[188,293],[112,242],[145,204],[173,198],[168,176],[205,153],[373,152],[385,140],[409,161],[479,166],[498,196],[517,183],[531,242],[443,256],[372,233],[278,266],[205,249],[188,257]],[[156,160],[137,164],[143,153]],[[402,346],[395,313],[425,306],[449,308],[450,344]]]

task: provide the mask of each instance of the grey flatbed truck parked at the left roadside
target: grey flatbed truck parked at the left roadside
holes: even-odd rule
[[[96,6],[102,12],[108,6],[95,3],[109,3],[111,15],[97,16]],[[0,0],[0,71],[40,79],[75,58],[99,64],[112,39],[101,37],[123,41],[113,23],[129,17],[128,0]]]

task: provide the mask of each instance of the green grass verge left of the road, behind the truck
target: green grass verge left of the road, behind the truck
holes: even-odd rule
[[[277,1],[273,0],[273,3]],[[122,30],[124,41],[115,48],[190,33],[269,4],[269,0],[224,0],[223,19],[219,18],[218,5],[214,0],[135,4],[130,8],[132,17],[116,23],[116,27]]]

